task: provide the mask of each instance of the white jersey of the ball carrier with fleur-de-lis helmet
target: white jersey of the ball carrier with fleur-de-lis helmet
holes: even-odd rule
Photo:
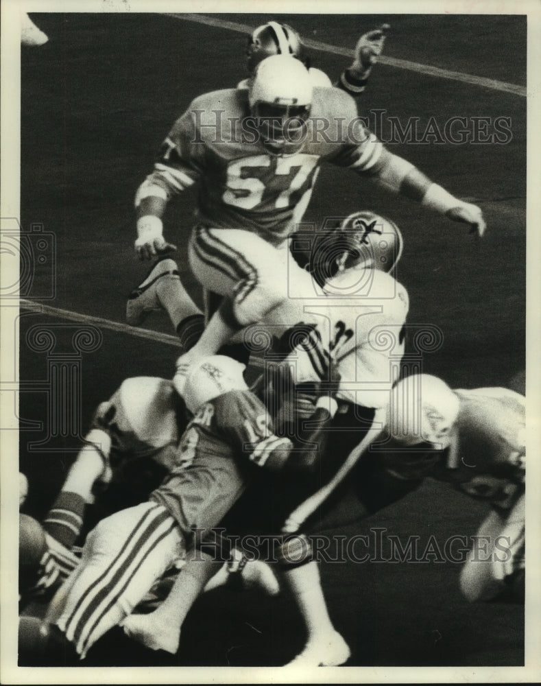
[[[264,322],[245,331],[255,340],[267,329],[279,337],[295,324],[315,325],[322,348],[338,362],[339,399],[384,407],[396,379],[393,370],[404,355],[404,324],[409,310],[407,290],[389,274],[374,269],[348,270],[324,289],[309,272],[296,270],[290,296]],[[317,381],[317,351],[297,346],[289,355],[296,381]]]

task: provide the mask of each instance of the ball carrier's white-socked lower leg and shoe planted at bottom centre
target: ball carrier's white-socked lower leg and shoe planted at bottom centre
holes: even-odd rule
[[[292,567],[283,576],[293,593],[308,634],[304,649],[289,665],[343,665],[350,657],[350,649],[330,621],[317,563],[313,561],[300,567]]]

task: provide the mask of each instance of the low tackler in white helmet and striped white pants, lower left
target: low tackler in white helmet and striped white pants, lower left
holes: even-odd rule
[[[47,622],[60,628],[82,658],[183,558],[193,546],[194,529],[208,530],[221,521],[255,464],[297,471],[306,460],[315,460],[311,451],[295,452],[291,440],[273,434],[265,406],[248,390],[241,368],[224,357],[195,366],[187,385],[187,405],[195,416],[175,466],[149,501],[97,525],[79,567],[53,598]],[[328,412],[318,414],[328,418]],[[303,438],[317,450],[317,430]],[[241,459],[243,454],[248,460]]]

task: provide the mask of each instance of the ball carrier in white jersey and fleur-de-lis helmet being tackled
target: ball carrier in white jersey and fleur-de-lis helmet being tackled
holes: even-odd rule
[[[278,368],[269,366],[260,381],[265,405],[276,417],[280,436],[298,436],[303,421],[313,421],[316,408],[322,406],[324,390],[330,394],[325,402],[329,420],[334,419],[333,425],[327,427],[335,431],[330,434],[332,454],[328,464],[322,463],[325,443],[320,440],[317,482],[283,482],[279,476],[265,474],[263,480],[252,484],[248,498],[228,519],[228,528],[237,532],[240,522],[241,528],[248,523],[245,530],[250,533],[279,532],[293,504],[317,490],[326,475],[337,470],[341,459],[348,456],[372,425],[376,410],[386,407],[393,379],[389,346],[384,346],[383,351],[378,349],[370,331],[383,329],[387,335],[394,333],[396,344],[390,349],[395,364],[399,364],[407,293],[387,270],[393,270],[401,252],[398,227],[373,213],[354,213],[339,227],[318,235],[317,244],[310,250],[311,272],[302,270],[302,283],[296,284],[296,294],[302,297],[264,322],[277,335],[286,330],[280,344],[282,351],[278,350],[280,346],[272,351],[281,352],[286,359]],[[323,287],[318,280],[324,282]],[[302,318],[305,324],[289,328]],[[258,329],[252,335],[260,332]],[[324,354],[328,344],[322,345],[322,340],[329,336],[333,359]],[[271,359],[276,357],[271,355]],[[346,376],[341,377],[342,373]],[[394,498],[401,488],[402,483],[394,488]],[[388,496],[387,501],[391,501]],[[344,663],[350,651],[330,620],[309,537],[301,534],[285,540],[277,552],[278,567],[296,598],[307,632],[306,646],[293,664]],[[182,576],[178,578],[178,588],[173,587],[171,596],[158,611],[152,615],[131,615],[125,621],[132,637],[146,646],[165,650],[171,646],[176,650],[178,643],[172,643],[172,636],[180,632],[187,612],[186,598],[191,597],[184,591],[184,580]]]

